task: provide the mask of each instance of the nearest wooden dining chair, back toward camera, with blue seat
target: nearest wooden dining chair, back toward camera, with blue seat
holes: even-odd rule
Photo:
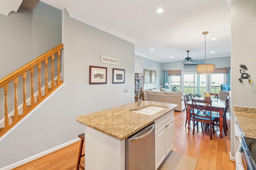
[[[206,107],[209,107],[209,112],[206,112]],[[212,140],[212,129],[214,130],[214,116],[212,116],[212,100],[192,99],[193,112],[193,135],[195,133],[195,122],[201,122],[210,125],[210,139]],[[203,129],[203,127],[202,127]]]

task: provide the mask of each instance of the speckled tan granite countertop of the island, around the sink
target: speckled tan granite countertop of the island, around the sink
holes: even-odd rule
[[[163,109],[154,115],[144,115],[130,111],[147,106],[160,106],[166,107],[166,109]],[[123,140],[140,129],[143,129],[150,123],[153,123],[166,113],[174,110],[176,107],[178,107],[176,104],[143,100],[140,108],[137,107],[137,102],[134,102],[131,104],[81,115],[76,118],[76,121],[118,140]]]

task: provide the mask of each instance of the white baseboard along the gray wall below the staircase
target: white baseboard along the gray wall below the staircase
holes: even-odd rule
[[[28,158],[25,158],[25,159],[23,159],[23,160],[20,160],[20,161],[18,161],[18,162],[15,162],[15,163],[13,163],[13,164],[10,164],[10,165],[8,165],[8,166],[5,166],[5,167],[3,167],[3,168],[0,168],[0,170],[10,170],[10,169],[15,168],[15,167],[17,167],[17,166],[20,166],[20,165],[22,165],[22,164],[26,164],[26,163],[28,163],[28,162],[30,162],[30,161],[32,161],[32,160],[35,160],[35,159],[40,158],[40,157],[42,157],[42,156],[45,156],[46,154],[49,154],[49,153],[51,153],[51,152],[54,152],[54,151],[56,151],[56,150],[58,150],[58,149],[62,149],[62,148],[64,148],[64,147],[66,147],[66,146],[68,146],[68,145],[71,145],[71,144],[73,144],[73,143],[75,143],[75,142],[78,142],[78,141],[80,141],[80,138],[73,139],[72,141],[63,143],[63,144],[61,144],[61,145],[59,145],[59,146],[53,147],[53,148],[48,149],[48,150],[45,150],[45,151],[43,151],[43,152],[41,152],[41,153],[35,154],[35,155],[33,155],[33,156],[30,156],[30,157],[28,157]]]

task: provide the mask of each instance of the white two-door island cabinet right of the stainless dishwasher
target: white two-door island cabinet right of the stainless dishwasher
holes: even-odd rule
[[[171,112],[170,112],[171,113]],[[172,116],[171,116],[172,115]],[[171,119],[170,119],[171,118]],[[163,123],[164,122],[164,123]],[[155,132],[155,154],[156,168],[163,162],[164,158],[171,151],[174,143],[174,117],[173,114],[166,115],[165,119],[156,121],[157,125],[162,125]]]

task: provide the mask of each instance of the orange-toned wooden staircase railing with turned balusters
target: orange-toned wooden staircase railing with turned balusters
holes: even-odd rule
[[[4,109],[0,107],[0,121],[2,119],[2,126],[0,122],[0,137],[63,84],[63,80],[61,80],[61,76],[63,76],[61,73],[62,49],[63,44],[60,44],[0,80],[0,90],[4,90],[4,96],[0,96],[0,103],[2,102],[2,105],[4,105]],[[51,70],[48,70],[48,60],[52,63]],[[44,66],[43,68],[42,65]],[[35,73],[34,70],[37,70],[37,72]],[[27,73],[30,74],[30,82],[27,81]],[[48,78],[49,73],[51,76]],[[38,77],[38,80],[35,81],[34,77]],[[41,82],[42,77],[45,81],[43,82],[43,88]],[[22,80],[23,83],[18,84],[19,79]],[[35,83],[38,84],[36,93],[34,93]],[[30,93],[26,92],[26,85],[30,86]],[[48,87],[48,85],[50,85],[50,87]],[[21,90],[18,91],[18,89]],[[42,92],[43,89],[44,91]],[[8,93],[8,91],[10,92]],[[22,98],[18,98],[18,94],[20,94]],[[8,98],[10,95],[14,95],[14,98],[11,98],[14,99],[14,101]],[[37,99],[36,101],[35,98]],[[12,106],[13,108],[8,107],[8,102],[14,105]],[[9,110],[14,111],[9,113]]]

